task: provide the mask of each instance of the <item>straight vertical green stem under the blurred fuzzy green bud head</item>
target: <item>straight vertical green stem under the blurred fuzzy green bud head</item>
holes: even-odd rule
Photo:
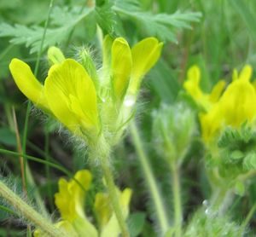
[[[182,236],[182,223],[183,223],[183,211],[181,203],[181,190],[179,181],[179,166],[172,161],[172,194],[173,194],[173,209],[174,209],[174,224],[175,224],[175,236]]]

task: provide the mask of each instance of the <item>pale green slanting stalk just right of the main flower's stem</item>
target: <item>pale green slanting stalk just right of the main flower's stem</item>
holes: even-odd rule
[[[134,121],[131,121],[130,128],[131,128],[132,141],[133,141],[134,146],[136,147],[138,159],[141,163],[143,173],[144,173],[150,194],[151,194],[153,202],[154,202],[154,209],[156,211],[158,223],[160,225],[162,234],[165,234],[169,228],[165,205],[163,203],[163,200],[160,197],[160,191],[157,188],[157,184],[154,179],[154,174],[149,165],[148,157],[143,150],[143,144],[142,144],[141,138],[139,136],[139,133],[137,131],[137,125],[135,124]]]

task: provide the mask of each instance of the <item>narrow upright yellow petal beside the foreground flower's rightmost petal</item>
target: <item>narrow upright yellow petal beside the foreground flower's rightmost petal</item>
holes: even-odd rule
[[[116,38],[112,45],[112,79],[115,98],[125,95],[131,74],[131,49],[124,38]]]

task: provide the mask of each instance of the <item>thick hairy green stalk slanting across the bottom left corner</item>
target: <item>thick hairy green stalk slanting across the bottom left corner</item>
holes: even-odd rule
[[[27,205],[25,201],[20,199],[12,190],[10,190],[2,181],[0,181],[0,195],[3,199],[6,199],[10,205],[20,212],[22,217],[26,217],[37,228],[42,229],[45,234],[52,237],[63,237],[67,234],[54,227],[52,223],[41,216],[38,211],[35,211],[30,205]]]

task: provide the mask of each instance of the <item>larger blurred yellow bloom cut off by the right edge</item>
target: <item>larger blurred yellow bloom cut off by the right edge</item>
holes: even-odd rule
[[[256,116],[256,90],[250,82],[252,72],[253,69],[249,65],[244,66],[240,73],[234,70],[232,82],[223,95],[206,113],[200,113],[201,133],[205,142],[210,142],[218,136],[225,126],[239,128],[245,122],[253,123]],[[193,90],[190,91],[196,101],[196,93],[193,95]],[[201,96],[203,102],[204,99],[205,97]]]

